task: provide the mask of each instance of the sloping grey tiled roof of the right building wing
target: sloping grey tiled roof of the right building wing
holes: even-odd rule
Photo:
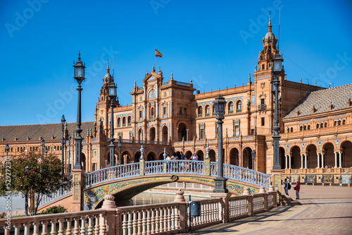
[[[352,100],[352,83],[341,85],[337,88],[310,92],[289,112],[289,114],[284,116],[284,119],[346,109],[348,100],[350,99]],[[330,111],[329,105],[331,104],[333,105],[333,108]],[[315,108],[314,113],[312,112],[313,107]]]

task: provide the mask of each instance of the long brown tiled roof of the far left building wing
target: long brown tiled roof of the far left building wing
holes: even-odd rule
[[[73,131],[77,128],[76,123],[67,123],[68,133],[72,135]],[[92,128],[94,130],[94,122],[87,121],[82,122],[81,135],[87,136],[87,129]],[[39,141],[39,137],[42,136],[44,140],[61,140],[63,135],[62,124],[37,124],[37,125],[20,125],[20,126],[0,126],[0,140],[4,138],[5,142],[10,141]],[[17,138],[17,140],[15,140]]]

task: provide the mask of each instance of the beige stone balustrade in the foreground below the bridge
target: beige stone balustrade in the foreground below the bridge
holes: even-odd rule
[[[216,198],[197,200],[201,215],[192,218],[192,229],[226,223],[252,216],[276,206],[277,193],[272,186],[268,193],[263,187],[251,195],[249,188],[244,195],[229,193]],[[99,210],[69,212],[30,217],[0,219],[0,234],[178,234],[189,231],[189,203],[183,192],[178,191],[173,203],[116,207],[113,195],[104,197]]]

